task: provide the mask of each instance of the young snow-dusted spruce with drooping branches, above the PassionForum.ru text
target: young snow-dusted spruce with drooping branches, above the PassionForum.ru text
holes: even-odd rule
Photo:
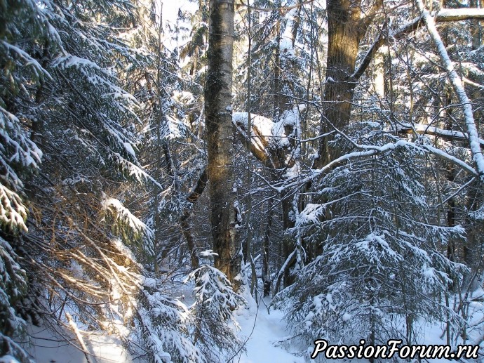
[[[356,144],[398,140],[375,123],[355,125],[349,135]],[[342,136],[335,143],[344,152],[354,145]],[[307,204],[296,222],[314,259],[276,296],[302,336],[415,343],[422,322],[449,320],[459,329],[462,321],[441,301],[466,268],[443,251],[465,232],[429,218],[423,159],[422,150],[403,145],[351,159],[321,178],[318,203]]]

